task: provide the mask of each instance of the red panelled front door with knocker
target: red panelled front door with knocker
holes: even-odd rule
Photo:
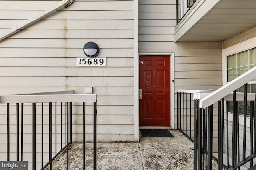
[[[170,126],[170,56],[140,56],[140,126]]]

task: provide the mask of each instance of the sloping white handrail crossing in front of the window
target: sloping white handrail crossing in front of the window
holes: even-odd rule
[[[218,90],[212,92],[208,96],[202,98],[199,101],[199,107],[200,108],[207,108],[210,105],[214,104],[218,100],[224,98],[231,92],[234,92],[236,89],[240,88],[244,84],[250,82],[250,80],[256,78],[256,66],[252,68],[251,70],[245,72],[238,78],[232,80],[231,82],[227,83],[226,85],[222,86]]]

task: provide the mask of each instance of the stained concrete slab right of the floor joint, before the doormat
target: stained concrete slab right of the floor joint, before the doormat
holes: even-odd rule
[[[192,170],[192,144],[182,133],[171,130],[174,138],[142,138],[140,150],[144,169]]]

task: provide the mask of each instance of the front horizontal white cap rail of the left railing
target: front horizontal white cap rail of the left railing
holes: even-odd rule
[[[96,102],[96,100],[96,94],[0,96],[0,103]]]

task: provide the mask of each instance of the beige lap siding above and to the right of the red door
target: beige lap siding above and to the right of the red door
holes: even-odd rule
[[[139,0],[138,3],[139,52],[174,53],[175,89],[216,90],[222,86],[222,44],[220,42],[174,43],[176,0]],[[174,107],[174,127],[177,128],[176,94]],[[192,109],[192,114],[193,111]],[[184,119],[186,120],[186,116]],[[194,117],[192,121],[193,119]],[[183,122],[183,117],[181,121]],[[183,128],[183,124],[181,126]]]

